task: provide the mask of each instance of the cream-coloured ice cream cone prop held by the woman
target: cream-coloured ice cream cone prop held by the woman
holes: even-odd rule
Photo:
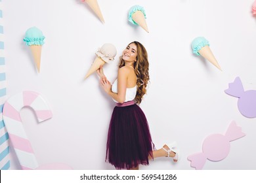
[[[105,63],[110,63],[110,61],[114,61],[116,52],[116,47],[110,43],[103,44],[101,48],[98,48],[98,51],[95,53],[96,58],[93,61],[91,68],[85,75],[85,79],[96,70],[98,70],[100,68],[100,65],[104,65]]]

